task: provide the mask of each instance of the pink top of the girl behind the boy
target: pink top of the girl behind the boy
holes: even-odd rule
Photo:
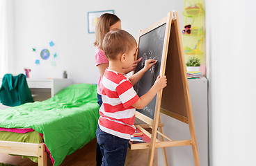
[[[96,49],[95,63],[96,63],[96,66],[98,66],[99,64],[109,64],[109,60],[108,60],[108,58],[106,58],[104,51],[99,48]],[[102,94],[102,76],[101,75],[99,75],[99,82],[97,85],[97,93],[99,95]]]

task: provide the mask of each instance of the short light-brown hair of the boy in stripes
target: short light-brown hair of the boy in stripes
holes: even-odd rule
[[[106,57],[112,60],[120,53],[128,53],[134,46],[137,46],[136,40],[125,30],[111,30],[105,35],[102,43]]]

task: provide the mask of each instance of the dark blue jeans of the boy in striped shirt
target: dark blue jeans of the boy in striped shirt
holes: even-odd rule
[[[99,129],[96,130],[97,143],[102,151],[102,166],[123,166],[129,140],[113,136]]]

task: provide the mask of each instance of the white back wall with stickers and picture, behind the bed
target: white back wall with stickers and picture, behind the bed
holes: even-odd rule
[[[31,68],[31,77],[58,78],[66,70],[74,83],[97,83],[95,34],[88,33],[87,12],[99,10],[115,10],[122,28],[137,39],[139,30],[171,10],[179,12],[182,21],[183,1],[15,0],[16,73]],[[35,56],[42,48],[49,48],[51,40],[56,43],[56,66],[50,62],[35,65]],[[31,51],[33,46],[38,49],[37,55]]]

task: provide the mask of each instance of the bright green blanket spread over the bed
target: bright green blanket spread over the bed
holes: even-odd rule
[[[0,110],[0,127],[42,133],[56,166],[95,138],[98,118],[97,86],[73,84],[43,102]]]

